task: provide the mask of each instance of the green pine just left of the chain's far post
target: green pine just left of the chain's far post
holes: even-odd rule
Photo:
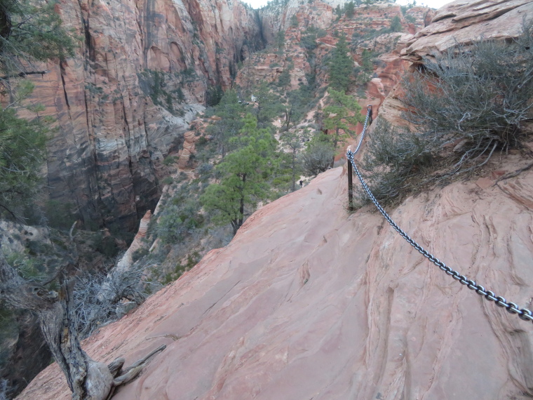
[[[354,133],[350,125],[362,122],[363,116],[360,114],[361,107],[355,98],[333,89],[330,89],[329,93],[330,103],[324,107],[324,128],[334,131],[332,145],[334,149],[337,149],[339,142],[344,142]],[[333,166],[333,161],[331,166]]]

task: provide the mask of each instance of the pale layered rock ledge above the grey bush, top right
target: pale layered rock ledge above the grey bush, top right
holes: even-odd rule
[[[415,34],[402,54],[405,60],[421,62],[457,44],[512,39],[522,31],[524,18],[533,18],[530,0],[453,1],[436,12],[431,25]]]

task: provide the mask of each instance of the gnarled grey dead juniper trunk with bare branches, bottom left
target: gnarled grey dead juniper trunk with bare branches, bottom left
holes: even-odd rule
[[[158,347],[125,369],[122,369],[124,359],[116,359],[107,366],[94,361],[81,349],[72,295],[74,280],[69,276],[76,269],[78,256],[72,241],[70,247],[73,258],[60,269],[58,291],[48,290],[38,282],[26,281],[0,254],[0,301],[11,307],[30,309],[39,316],[46,344],[67,378],[72,399],[107,400],[114,387],[133,380],[147,359],[166,346]]]

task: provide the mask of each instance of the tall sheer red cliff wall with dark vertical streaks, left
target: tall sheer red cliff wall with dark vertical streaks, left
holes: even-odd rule
[[[257,16],[225,0],[64,0],[58,12],[83,41],[76,58],[32,79],[31,101],[57,121],[49,196],[74,204],[86,225],[131,230],[155,206],[161,160],[208,87],[226,88],[262,46]]]

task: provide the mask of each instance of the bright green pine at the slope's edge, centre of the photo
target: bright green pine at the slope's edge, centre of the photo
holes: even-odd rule
[[[200,201],[212,221],[231,224],[234,234],[243,225],[246,207],[254,208],[257,201],[269,197],[266,179],[273,172],[277,141],[268,129],[257,128],[252,114],[244,118],[241,135],[234,139],[238,149],[217,166],[220,183],[205,189]]]

